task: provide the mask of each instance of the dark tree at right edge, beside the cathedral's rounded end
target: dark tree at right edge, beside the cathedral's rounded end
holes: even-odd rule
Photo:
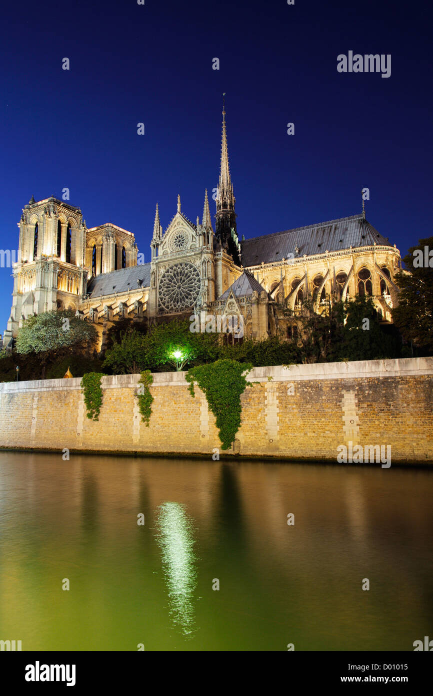
[[[427,247],[427,254],[425,253]],[[431,256],[430,256],[431,254]],[[433,237],[420,239],[403,258],[408,273],[395,276],[400,287],[393,321],[405,340],[422,351],[433,351]],[[427,262],[427,263],[426,263]]]

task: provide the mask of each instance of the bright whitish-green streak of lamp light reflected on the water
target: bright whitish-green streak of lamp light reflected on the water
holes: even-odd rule
[[[158,508],[158,534],[163,573],[170,600],[170,617],[184,635],[195,630],[195,588],[197,558],[194,553],[193,522],[185,506],[163,503]]]

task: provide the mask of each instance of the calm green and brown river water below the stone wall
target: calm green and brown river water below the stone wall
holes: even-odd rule
[[[0,452],[0,639],[413,650],[432,493],[429,470]]]

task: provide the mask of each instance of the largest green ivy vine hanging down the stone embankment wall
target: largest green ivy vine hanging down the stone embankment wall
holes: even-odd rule
[[[188,370],[185,379],[190,383],[188,389],[195,396],[194,382],[206,395],[216,425],[219,429],[222,450],[228,450],[240,426],[240,395],[245,387],[252,386],[245,374],[252,370],[251,363],[238,363],[236,360],[217,360],[208,365],[198,365]]]

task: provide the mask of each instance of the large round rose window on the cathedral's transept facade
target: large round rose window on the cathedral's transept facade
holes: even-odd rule
[[[164,271],[159,282],[159,301],[172,312],[190,309],[202,287],[199,271],[191,263],[177,263]]]

